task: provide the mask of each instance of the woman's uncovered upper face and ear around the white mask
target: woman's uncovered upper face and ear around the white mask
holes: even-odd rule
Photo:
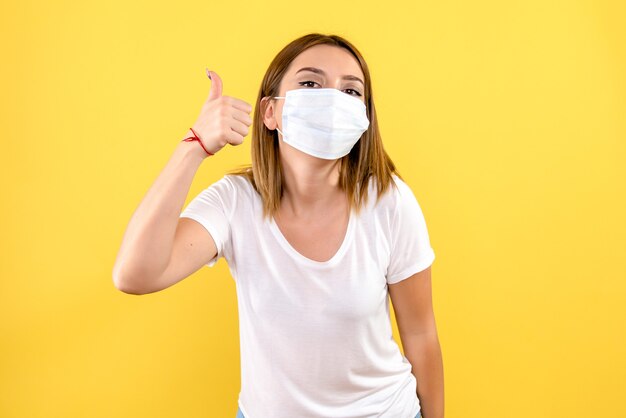
[[[333,45],[315,45],[298,55],[289,65],[277,96],[288,90],[335,88],[365,103],[365,77],[359,62],[347,50]],[[268,129],[283,130],[284,99],[271,99],[264,122]],[[279,133],[280,135],[280,133]]]

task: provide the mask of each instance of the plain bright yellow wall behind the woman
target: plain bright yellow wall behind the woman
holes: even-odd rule
[[[254,103],[310,31],[365,55],[424,210],[446,417],[626,416],[624,3],[377,4],[2,3],[0,416],[234,418],[225,261],[144,296],[111,272],[205,66]],[[249,139],[187,202],[249,162]]]

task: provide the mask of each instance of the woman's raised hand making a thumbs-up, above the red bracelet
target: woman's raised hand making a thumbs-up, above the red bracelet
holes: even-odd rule
[[[252,125],[252,105],[236,97],[223,96],[220,76],[209,70],[207,75],[211,79],[211,90],[192,128],[204,147],[215,154],[226,144],[243,143],[243,138],[248,135],[248,128]],[[198,149],[202,150],[201,147]]]

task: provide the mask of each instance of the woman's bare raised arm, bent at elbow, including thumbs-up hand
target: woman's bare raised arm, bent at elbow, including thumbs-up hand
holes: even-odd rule
[[[187,134],[191,137],[197,132],[200,143],[178,143],[126,228],[113,268],[113,282],[127,293],[163,289],[213,257],[211,235],[203,232],[202,226],[193,225],[195,221],[179,221],[180,213],[196,171],[207,155],[214,155],[226,144],[243,143],[252,125],[252,105],[223,96],[220,76],[208,70],[207,75],[212,82],[209,97]]]

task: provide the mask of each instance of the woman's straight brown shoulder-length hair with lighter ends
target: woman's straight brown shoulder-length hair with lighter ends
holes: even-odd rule
[[[370,73],[361,53],[354,45],[338,35],[324,35],[310,33],[295,39],[285,46],[270,63],[261,87],[255,106],[252,129],[252,164],[239,167],[228,174],[245,176],[254,189],[261,195],[263,201],[263,218],[274,216],[280,207],[283,195],[283,172],[280,163],[278,148],[278,134],[276,130],[269,130],[263,123],[263,114],[267,101],[266,96],[277,96],[280,83],[289,67],[289,64],[304,50],[314,45],[328,44],[349,51],[361,65],[365,76],[365,107],[367,118],[370,121],[368,129],[363,132],[350,152],[339,162],[339,187],[345,191],[350,208],[359,213],[367,202],[370,180],[376,181],[378,199],[390,187],[396,187],[392,179],[395,173],[400,179],[393,161],[383,148],[383,142],[378,129],[376,108],[372,94]]]

